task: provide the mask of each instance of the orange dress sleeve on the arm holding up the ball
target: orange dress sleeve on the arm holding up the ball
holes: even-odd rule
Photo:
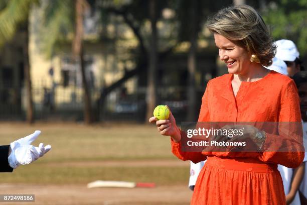
[[[200,114],[198,118],[198,122],[209,122],[210,116],[209,116],[209,108],[208,108],[208,90],[209,90],[209,83],[207,84],[205,93],[202,97],[202,105],[200,109]],[[183,138],[186,133],[181,131],[181,137]],[[203,155],[202,152],[184,152],[181,150],[181,142],[174,142],[171,138],[171,144],[172,144],[172,152],[174,155],[176,155],[181,160],[191,160],[194,163],[198,163],[200,161],[204,161],[207,159],[207,156]]]

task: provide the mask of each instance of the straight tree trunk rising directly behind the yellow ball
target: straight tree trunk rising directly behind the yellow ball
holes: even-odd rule
[[[150,0],[149,2],[149,16],[151,23],[151,39],[149,49],[149,69],[147,74],[147,94],[146,104],[147,112],[145,121],[153,116],[155,106],[157,104],[157,12],[156,12],[156,1]]]

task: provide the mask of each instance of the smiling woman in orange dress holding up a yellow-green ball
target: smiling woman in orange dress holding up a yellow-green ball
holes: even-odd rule
[[[246,5],[230,7],[209,19],[208,28],[229,73],[208,82],[198,122],[300,123],[293,80],[263,67],[272,63],[275,46],[261,16]],[[155,122],[162,135],[171,136],[172,152],[179,159],[207,160],[191,204],[285,204],[277,164],[294,168],[304,158],[299,142],[276,140],[279,136],[257,129],[250,137],[259,148],[279,143],[290,146],[291,152],[185,152],[181,149],[185,133],[172,114],[168,120],[152,117],[149,122]]]

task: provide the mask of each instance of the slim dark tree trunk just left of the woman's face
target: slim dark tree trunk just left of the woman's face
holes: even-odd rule
[[[187,121],[196,121],[196,51],[197,51],[197,0],[191,0],[190,16],[191,16],[191,37],[190,37],[190,51],[188,54],[188,115]]]

